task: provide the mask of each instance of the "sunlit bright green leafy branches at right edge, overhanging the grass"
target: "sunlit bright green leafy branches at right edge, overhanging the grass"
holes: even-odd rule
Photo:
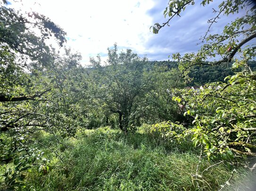
[[[233,153],[256,156],[254,76],[255,72],[238,73],[228,76],[227,84],[207,84],[203,90],[181,92],[181,102],[187,105],[184,115],[195,119],[190,129],[193,143],[205,145],[208,157],[215,153],[223,159],[227,154],[233,158]]]

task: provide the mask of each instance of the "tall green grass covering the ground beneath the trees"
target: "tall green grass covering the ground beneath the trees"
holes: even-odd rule
[[[54,137],[41,136],[56,149]],[[50,170],[39,176],[32,171],[27,190],[35,191],[215,191],[230,177],[232,168],[223,163],[205,171],[196,180],[199,151],[187,142],[176,145],[143,130],[124,134],[99,128],[84,130],[78,139],[66,141],[64,166],[69,176]],[[47,153],[52,165],[57,158]],[[212,163],[202,160],[198,174]],[[245,174],[242,169],[240,174]],[[238,178],[238,173],[234,179]]]

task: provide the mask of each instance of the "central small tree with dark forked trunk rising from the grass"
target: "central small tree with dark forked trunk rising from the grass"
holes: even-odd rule
[[[154,87],[155,79],[151,75],[152,70],[147,69],[146,58],[139,58],[131,50],[118,54],[115,44],[113,49],[108,49],[104,67],[99,56],[98,61],[91,58],[91,64],[95,67],[93,75],[98,78],[95,91],[102,105],[106,104],[108,111],[119,115],[119,128],[127,131],[139,117],[140,98]]]

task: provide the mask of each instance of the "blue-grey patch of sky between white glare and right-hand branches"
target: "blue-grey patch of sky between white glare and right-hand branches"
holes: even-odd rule
[[[216,0],[203,7],[200,1],[196,0],[195,5],[188,6],[185,12],[181,13],[181,17],[176,17],[169,23],[170,27],[165,26],[146,43],[147,47],[156,47],[159,50],[150,56],[153,59],[162,60],[172,53],[196,52],[202,45],[197,45],[201,42],[200,37],[205,35],[209,27],[207,21],[214,17],[213,8],[217,10],[219,3],[220,0]],[[155,7],[149,10],[148,14],[154,18],[154,23],[167,21],[167,17],[165,19],[163,16],[165,7],[166,0],[159,0]],[[221,15],[218,23],[211,27],[210,33],[222,33],[223,26],[244,14],[245,12],[242,12],[228,17]]]

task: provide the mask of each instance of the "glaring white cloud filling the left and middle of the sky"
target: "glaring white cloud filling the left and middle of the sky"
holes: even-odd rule
[[[67,32],[67,46],[82,53],[83,62],[90,56],[107,53],[116,42],[119,47],[144,54],[151,35],[152,18],[146,12],[152,0],[23,0],[22,9],[48,16]],[[12,6],[18,7],[18,3]]]

